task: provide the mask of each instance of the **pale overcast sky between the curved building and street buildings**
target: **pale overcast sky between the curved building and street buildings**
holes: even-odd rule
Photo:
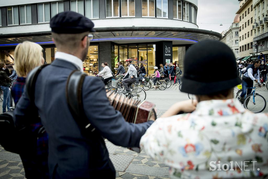
[[[197,25],[221,33],[232,25],[238,9],[237,0],[198,0]]]

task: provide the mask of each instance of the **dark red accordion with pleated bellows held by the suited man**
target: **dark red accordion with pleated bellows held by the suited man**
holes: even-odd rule
[[[115,94],[113,91],[106,91],[110,104],[114,109],[120,111],[129,123],[147,122],[155,113],[155,104],[148,101],[139,101],[126,97],[124,94]]]

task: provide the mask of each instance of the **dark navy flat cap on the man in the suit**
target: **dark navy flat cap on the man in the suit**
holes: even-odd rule
[[[50,20],[51,31],[57,34],[95,32],[94,23],[87,17],[72,11],[58,13]]]

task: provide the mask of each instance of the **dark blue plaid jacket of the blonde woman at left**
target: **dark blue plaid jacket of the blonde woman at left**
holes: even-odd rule
[[[12,85],[12,97],[14,99],[15,105],[19,101],[21,95],[24,91],[26,78],[17,77],[17,81]],[[38,133],[38,129],[42,127],[40,119],[29,119],[31,131],[35,134]],[[40,134],[37,139],[37,152],[32,156],[20,156],[25,169],[26,178],[49,178],[48,169],[48,135],[46,132]]]

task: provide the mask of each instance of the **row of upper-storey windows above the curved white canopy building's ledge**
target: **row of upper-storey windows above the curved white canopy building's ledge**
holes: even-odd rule
[[[135,17],[135,0],[106,0],[106,17],[120,16],[119,1],[121,1],[121,17]],[[142,0],[142,16],[155,17],[155,3],[156,17],[168,18],[168,0]],[[173,0],[174,19],[190,21],[189,5],[188,2]],[[51,17],[64,11],[64,2],[39,3],[37,10],[38,23],[50,22]],[[71,0],[70,10],[85,15],[89,19],[99,18],[99,0]],[[195,7],[191,6],[193,23],[196,23],[196,13]],[[31,24],[31,5],[7,7],[7,16],[8,25]],[[2,26],[1,15],[0,26]]]

